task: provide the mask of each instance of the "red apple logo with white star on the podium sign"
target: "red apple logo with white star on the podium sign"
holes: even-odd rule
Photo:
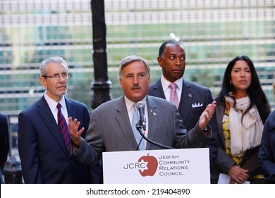
[[[155,158],[154,156],[149,156],[149,153],[148,153],[147,156],[142,156],[141,158],[139,158],[138,162],[142,163],[143,165],[143,166],[141,165],[142,170],[138,170],[140,172],[140,175],[142,175],[142,177],[153,176],[154,173],[156,173],[158,162],[157,162],[157,158]]]

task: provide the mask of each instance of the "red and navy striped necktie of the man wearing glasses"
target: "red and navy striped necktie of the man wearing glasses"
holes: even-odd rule
[[[71,136],[68,132],[68,125],[67,122],[65,120],[65,117],[63,116],[62,112],[61,112],[61,104],[57,104],[57,120],[59,123],[59,129],[63,138],[63,141],[65,142],[66,148],[68,150],[68,153],[71,153]]]

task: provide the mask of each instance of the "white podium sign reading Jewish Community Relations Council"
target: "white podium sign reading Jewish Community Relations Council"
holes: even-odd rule
[[[209,184],[209,148],[103,153],[105,184]]]

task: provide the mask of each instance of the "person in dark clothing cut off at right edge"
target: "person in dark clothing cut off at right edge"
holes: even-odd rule
[[[275,95],[275,81],[273,83]],[[275,184],[275,110],[264,124],[262,143],[259,148],[259,168],[264,173],[266,183]]]

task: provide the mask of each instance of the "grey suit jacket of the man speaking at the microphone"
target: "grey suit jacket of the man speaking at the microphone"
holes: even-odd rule
[[[172,103],[147,96],[148,138],[173,148],[203,147],[209,141],[198,125],[186,135],[181,117]],[[124,96],[108,101],[92,112],[85,141],[76,155],[82,163],[94,163],[103,151],[135,151],[138,147],[130,125]],[[147,142],[147,150],[161,149]]]

